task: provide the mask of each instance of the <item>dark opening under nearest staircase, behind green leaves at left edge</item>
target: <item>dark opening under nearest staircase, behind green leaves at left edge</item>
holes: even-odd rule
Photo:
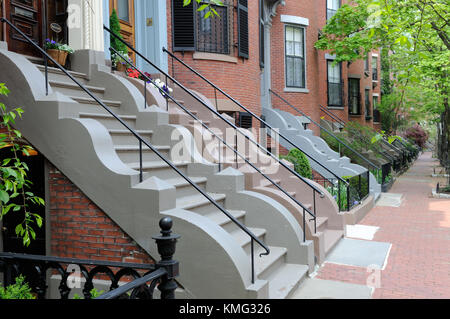
[[[0,161],[11,157],[10,148],[2,149],[0,151]],[[20,160],[25,162],[29,171],[27,172],[27,179],[32,182],[31,188],[27,191],[34,195],[45,198],[45,172],[44,172],[44,157],[40,154],[35,156],[21,156]],[[14,199],[17,204],[23,200],[20,196]],[[34,205],[30,203],[29,210],[32,213],[39,214],[45,218],[45,207],[42,205]],[[31,240],[31,244],[27,247],[23,245],[21,237],[18,237],[15,228],[24,219],[23,211],[10,211],[3,216],[2,225],[2,239],[3,251],[12,253],[26,253],[32,255],[45,255],[45,222],[39,228],[36,224],[32,225],[36,232],[36,239]]]

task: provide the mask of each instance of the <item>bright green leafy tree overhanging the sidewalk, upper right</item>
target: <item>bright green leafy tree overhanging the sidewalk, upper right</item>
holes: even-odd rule
[[[402,114],[419,122],[440,122],[439,154],[441,162],[448,163],[448,0],[354,0],[330,19],[316,48],[336,54],[336,63],[362,59],[372,49],[383,48],[393,75],[390,112],[395,118]]]

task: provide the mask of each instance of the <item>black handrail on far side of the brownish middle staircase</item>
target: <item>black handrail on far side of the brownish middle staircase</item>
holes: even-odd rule
[[[252,111],[250,111],[248,108],[246,108],[245,106],[243,106],[241,103],[239,103],[238,101],[236,101],[236,99],[234,99],[232,96],[230,96],[228,93],[224,92],[221,88],[219,88],[218,86],[216,86],[214,83],[212,83],[210,80],[208,80],[207,78],[205,78],[203,75],[201,75],[199,72],[197,72],[196,70],[194,70],[192,67],[190,67],[189,65],[187,65],[183,60],[180,60],[178,57],[176,57],[172,52],[168,51],[166,48],[163,48],[163,51],[166,52],[167,54],[169,54],[172,58],[176,59],[178,62],[180,62],[184,67],[186,67],[187,69],[189,69],[191,72],[193,72],[195,75],[197,75],[198,77],[200,77],[202,80],[204,80],[205,82],[207,82],[209,85],[211,85],[215,90],[219,91],[220,93],[222,93],[224,96],[226,96],[229,100],[231,100],[233,103],[235,103],[237,106],[239,106],[241,109],[245,110],[248,114],[250,114],[253,118],[255,118],[256,120],[258,120],[261,123],[261,126],[267,127],[271,132],[276,132],[276,134],[278,136],[280,136],[281,138],[283,138],[285,141],[287,141],[291,146],[301,150],[300,147],[298,147],[296,144],[294,144],[292,141],[290,141],[287,137],[285,137],[283,134],[277,132],[276,130],[274,130],[274,128],[272,126],[270,126],[266,121],[264,121],[263,119],[261,119],[259,116],[257,116],[256,114],[254,114]],[[217,105],[217,103],[216,103]],[[216,110],[213,110],[214,112],[217,112]],[[217,112],[218,113],[218,112]],[[301,150],[302,151],[302,150]],[[267,151],[269,155],[273,154],[269,151]],[[305,153],[304,151],[302,151],[305,155],[307,155],[308,157],[310,157],[307,153]],[[337,176],[336,174],[334,174],[332,171],[330,171],[327,167],[323,166],[322,164],[320,164],[319,162],[317,162],[314,158],[310,157],[312,160],[314,160],[319,166],[321,166],[323,169],[325,169],[327,172],[329,172],[330,174],[332,174],[337,180],[339,180],[340,182],[344,183],[345,185],[347,185],[347,181],[345,181],[344,179],[342,179],[341,177]],[[281,162],[282,163],[282,162]],[[297,174],[298,175],[298,174]],[[300,177],[300,176],[298,176]],[[305,181],[303,178],[301,178],[303,181]],[[309,184],[309,183],[308,183]],[[313,188],[313,185],[310,185],[310,187]],[[321,193],[320,190],[317,190],[317,192]]]

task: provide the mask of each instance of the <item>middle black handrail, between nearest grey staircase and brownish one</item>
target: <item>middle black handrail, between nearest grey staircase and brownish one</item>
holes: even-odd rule
[[[152,83],[153,85],[157,86],[156,83],[153,81],[153,79],[149,78],[147,75],[145,75],[142,71],[140,71],[131,61],[125,59],[125,57],[118,52],[116,49],[114,48],[110,48],[110,50],[112,52],[114,52],[115,54],[117,54],[121,59],[123,59],[124,61],[126,61],[126,63],[133,68],[134,70],[136,70],[143,78],[143,81],[149,81],[150,83]],[[144,87],[145,89],[145,87]],[[224,144],[226,147],[228,147],[229,149],[231,149],[234,154],[236,154],[237,156],[239,156],[240,158],[242,158],[248,165],[250,165],[254,170],[256,170],[259,174],[261,174],[264,178],[266,178],[271,184],[273,184],[276,188],[278,188],[278,190],[280,190],[281,192],[283,192],[286,196],[288,196],[292,201],[294,201],[298,206],[300,206],[303,209],[303,214],[305,214],[305,212],[307,212],[310,216],[312,216],[314,218],[314,221],[316,221],[316,215],[315,213],[311,212],[308,208],[306,208],[302,203],[300,203],[296,198],[294,198],[291,194],[289,194],[288,191],[286,191],[285,189],[283,189],[280,185],[278,185],[278,183],[276,183],[274,180],[272,180],[269,176],[267,176],[266,174],[264,174],[259,168],[257,168],[255,165],[253,165],[244,155],[240,154],[234,147],[232,147],[231,145],[229,145],[227,142],[225,142],[225,140],[223,140],[220,136],[218,136],[216,133],[214,133],[213,130],[211,130],[208,125],[206,125],[203,121],[201,121],[197,116],[195,116],[191,111],[189,111],[186,107],[184,107],[181,103],[179,103],[174,97],[172,97],[168,92],[163,91],[162,89],[159,89],[166,98],[170,99],[173,103],[175,103],[178,107],[180,107],[184,112],[186,112],[189,116],[191,116],[195,121],[197,121],[198,123],[200,123],[205,129],[208,130],[208,132],[210,132],[219,142],[221,142],[222,144]],[[220,149],[220,146],[219,146]],[[220,155],[219,155],[219,161],[220,161]],[[220,165],[220,164],[219,164]],[[305,227],[305,220],[304,220],[304,224],[303,227]],[[303,232],[303,241],[306,241],[305,238],[305,234],[306,232]]]

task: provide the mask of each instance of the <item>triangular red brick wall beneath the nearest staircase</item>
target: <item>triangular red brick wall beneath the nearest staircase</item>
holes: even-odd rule
[[[113,262],[153,263],[116,223],[50,165],[50,255]]]

